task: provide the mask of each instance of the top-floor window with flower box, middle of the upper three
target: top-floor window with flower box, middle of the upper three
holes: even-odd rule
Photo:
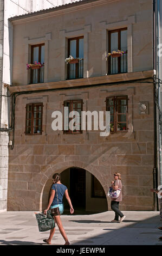
[[[68,39],[68,57],[79,58],[78,63],[68,64],[68,79],[83,77],[84,39],[83,36]]]

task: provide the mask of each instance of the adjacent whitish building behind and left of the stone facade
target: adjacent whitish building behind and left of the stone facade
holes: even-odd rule
[[[73,2],[78,0],[0,0],[0,94],[3,95],[0,96],[1,128],[8,128],[8,97],[5,84],[11,84],[12,28],[9,27],[8,19]],[[7,210],[8,143],[8,132],[0,132],[0,212]]]

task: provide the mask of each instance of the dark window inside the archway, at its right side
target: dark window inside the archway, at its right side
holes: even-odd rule
[[[98,179],[96,179],[94,175],[91,175],[91,177],[92,177],[92,197],[106,198],[105,191],[103,190],[103,187],[101,186]]]

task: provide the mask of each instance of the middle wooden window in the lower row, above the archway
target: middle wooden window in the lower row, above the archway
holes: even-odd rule
[[[83,101],[82,100],[68,100],[68,101],[64,101],[63,106],[68,107],[67,116],[66,117],[64,116],[64,126],[67,125],[68,127],[67,127],[66,130],[65,130],[65,127],[64,127],[64,132],[63,133],[67,133],[67,134],[82,133],[82,130],[81,130],[81,112],[82,112],[82,108],[83,108]],[[78,129],[75,129],[75,130],[69,128],[70,121],[75,118],[75,115],[74,115],[74,117],[69,117],[69,113],[72,112],[72,111],[77,111],[79,113],[79,123],[76,124],[74,122],[74,126],[75,127],[78,126]],[[65,118],[67,120],[66,125],[65,125]]]

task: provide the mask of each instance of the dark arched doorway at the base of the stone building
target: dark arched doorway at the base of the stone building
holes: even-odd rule
[[[74,214],[96,214],[108,211],[105,191],[96,177],[86,169],[70,167],[61,172],[61,182],[68,188]],[[46,209],[51,179],[48,179],[43,190],[42,209]],[[64,213],[69,213],[69,205],[63,198]]]

